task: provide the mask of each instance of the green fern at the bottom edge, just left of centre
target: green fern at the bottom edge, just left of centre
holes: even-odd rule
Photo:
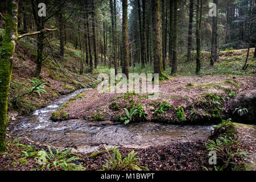
[[[139,161],[136,157],[137,152],[131,151],[128,156],[123,154],[123,158],[119,150],[115,147],[113,148],[113,156],[110,155],[109,150],[106,150],[109,154],[108,159],[106,160],[106,164],[102,167],[101,171],[142,171],[142,168],[138,166]],[[143,169],[147,170],[147,168],[143,167]]]

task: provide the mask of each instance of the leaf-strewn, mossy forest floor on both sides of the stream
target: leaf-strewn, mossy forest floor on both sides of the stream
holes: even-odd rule
[[[49,53],[44,60],[42,68],[43,82],[47,84],[47,93],[41,96],[34,93],[19,98],[32,87],[31,80],[35,79],[35,42],[32,38],[20,41],[16,47],[13,76],[10,85],[9,98],[9,122],[18,119],[18,115],[32,113],[36,109],[47,106],[49,102],[62,94],[71,93],[79,88],[94,88],[97,85],[99,73],[109,73],[109,68],[99,65],[94,72],[79,74],[81,51],[74,49],[72,45],[65,47],[65,56],[60,58],[56,51],[56,44],[47,46]],[[253,49],[250,51],[249,67],[242,71],[245,61],[246,49],[234,51],[221,51],[220,58],[214,67],[209,65],[209,52],[202,53],[202,66],[200,76],[195,75],[195,61],[185,61],[186,55],[179,56],[178,75],[170,77],[170,80],[160,82],[160,96],[156,100],[149,100],[148,94],[100,94],[97,89],[86,90],[76,98],[69,100],[60,110],[53,113],[55,121],[65,119],[84,119],[84,121],[114,121],[120,122],[125,117],[125,108],[146,107],[143,121],[160,121],[177,124],[191,123],[219,123],[222,118],[232,116],[236,107],[245,107],[250,110],[255,107],[255,102],[247,105],[233,105],[236,97],[241,94],[255,94],[256,87],[256,60],[253,58]],[[195,52],[193,52],[195,60]],[[85,72],[87,72],[85,68]],[[132,68],[131,72],[150,73],[152,67],[148,64],[145,69],[140,65]],[[170,68],[166,73],[170,75]],[[120,72],[120,70],[119,70]],[[243,95],[242,95],[243,96]],[[166,102],[164,102],[166,101]],[[160,104],[170,104],[170,109],[160,113]],[[183,115],[184,114],[184,115]],[[236,113],[235,113],[236,114]],[[249,114],[249,117],[251,115]],[[238,118],[238,115],[236,116]],[[141,118],[136,118],[139,120]],[[241,118],[244,120],[245,118]],[[247,118],[246,118],[247,119]],[[254,119],[255,122],[255,119]],[[252,122],[250,122],[252,123]],[[250,163],[255,165],[256,141],[254,127],[241,127],[239,136],[242,140],[241,150],[250,156]],[[40,151],[46,146],[27,139],[7,138],[8,150],[0,155],[0,170],[30,170],[38,166],[35,155],[24,155],[27,145],[35,146],[33,150]],[[193,142],[175,142],[164,146],[151,146],[136,149],[141,166],[151,170],[203,170],[208,167],[205,140]],[[102,150],[104,147],[101,146]],[[119,148],[127,155],[132,148]],[[110,154],[113,154],[110,152]],[[75,163],[81,164],[88,170],[101,169],[105,164],[108,154],[97,155],[88,158],[90,154],[72,154],[82,160]],[[249,163],[249,162],[248,162]],[[255,166],[252,168],[255,170]]]

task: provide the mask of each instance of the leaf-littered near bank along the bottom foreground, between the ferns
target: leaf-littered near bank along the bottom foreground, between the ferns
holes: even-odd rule
[[[256,154],[256,128],[251,125],[238,125],[238,138],[241,139],[240,150],[245,151],[249,158],[239,158],[236,162],[245,162],[247,170],[256,170],[255,154]],[[202,171],[204,167],[210,168],[208,164],[208,152],[205,150],[207,140],[197,140],[193,142],[174,142],[164,146],[151,146],[144,149],[134,149],[138,152],[139,167],[147,167],[153,171]],[[33,146],[33,152],[24,155],[28,146]],[[31,169],[39,169],[38,160],[35,155],[38,151],[47,150],[47,146],[37,145],[35,142],[27,139],[14,140],[7,138],[7,151],[0,154],[0,170],[4,171],[28,171]],[[123,155],[128,155],[133,148],[118,147]],[[53,153],[56,154],[54,149]],[[101,151],[104,151],[104,146],[101,146]],[[27,150],[28,151],[28,150]],[[113,151],[109,151],[113,155]],[[96,153],[70,153],[66,156],[67,159],[75,156],[80,158],[73,161],[77,165],[85,167],[86,170],[100,170],[106,164],[109,158],[108,152]],[[51,164],[51,168],[53,164]],[[53,167],[54,169],[54,167]],[[47,170],[47,169],[45,169]]]

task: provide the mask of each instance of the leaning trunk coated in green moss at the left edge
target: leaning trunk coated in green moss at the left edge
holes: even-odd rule
[[[7,0],[5,37],[0,52],[0,151],[5,151],[7,100],[11,81],[13,55],[18,40],[18,0]]]

